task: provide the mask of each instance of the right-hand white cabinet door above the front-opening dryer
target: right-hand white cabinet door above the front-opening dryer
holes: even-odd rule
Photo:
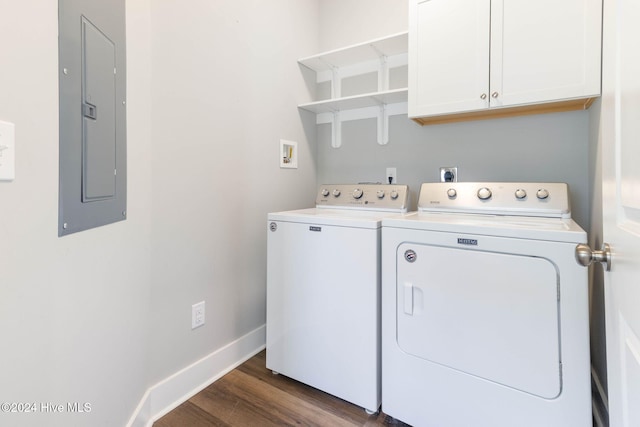
[[[492,0],[491,107],[600,94],[601,0]]]

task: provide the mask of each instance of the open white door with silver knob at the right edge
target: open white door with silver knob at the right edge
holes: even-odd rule
[[[601,117],[609,418],[640,426],[640,2],[604,1]]]

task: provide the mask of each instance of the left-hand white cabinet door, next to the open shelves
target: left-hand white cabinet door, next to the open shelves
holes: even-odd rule
[[[411,0],[409,117],[488,108],[490,6]]]

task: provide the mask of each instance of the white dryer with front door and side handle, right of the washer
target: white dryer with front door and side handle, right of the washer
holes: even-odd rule
[[[427,183],[383,221],[382,410],[414,426],[590,426],[586,233],[558,183]]]

